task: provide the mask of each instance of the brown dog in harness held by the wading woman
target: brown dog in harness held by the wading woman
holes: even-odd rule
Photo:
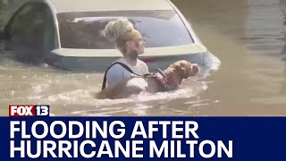
[[[198,72],[198,64],[191,64],[181,60],[171,64],[164,72],[158,70],[142,77],[134,77],[122,80],[112,88],[105,88],[97,93],[98,99],[126,98],[138,95],[142,91],[148,93],[164,92],[178,89],[183,79],[188,79]]]

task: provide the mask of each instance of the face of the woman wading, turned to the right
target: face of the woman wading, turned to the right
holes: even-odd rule
[[[139,55],[144,54],[145,42],[138,30],[133,30],[128,47],[130,51],[135,50]]]

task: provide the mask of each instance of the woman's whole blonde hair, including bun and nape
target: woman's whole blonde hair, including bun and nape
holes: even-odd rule
[[[126,42],[134,37],[133,24],[127,19],[118,19],[117,21],[110,21],[105,26],[105,38],[113,41],[115,47],[118,48],[123,55],[126,54]]]

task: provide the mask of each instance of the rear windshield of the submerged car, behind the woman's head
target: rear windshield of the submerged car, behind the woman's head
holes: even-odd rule
[[[58,13],[61,46],[64,48],[113,49],[105,38],[105,25],[127,18],[139,30],[146,47],[170,47],[193,43],[181,18],[174,11],[116,11]]]

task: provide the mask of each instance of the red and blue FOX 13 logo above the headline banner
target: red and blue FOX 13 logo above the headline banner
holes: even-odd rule
[[[50,106],[46,105],[10,105],[10,117],[49,116]]]

